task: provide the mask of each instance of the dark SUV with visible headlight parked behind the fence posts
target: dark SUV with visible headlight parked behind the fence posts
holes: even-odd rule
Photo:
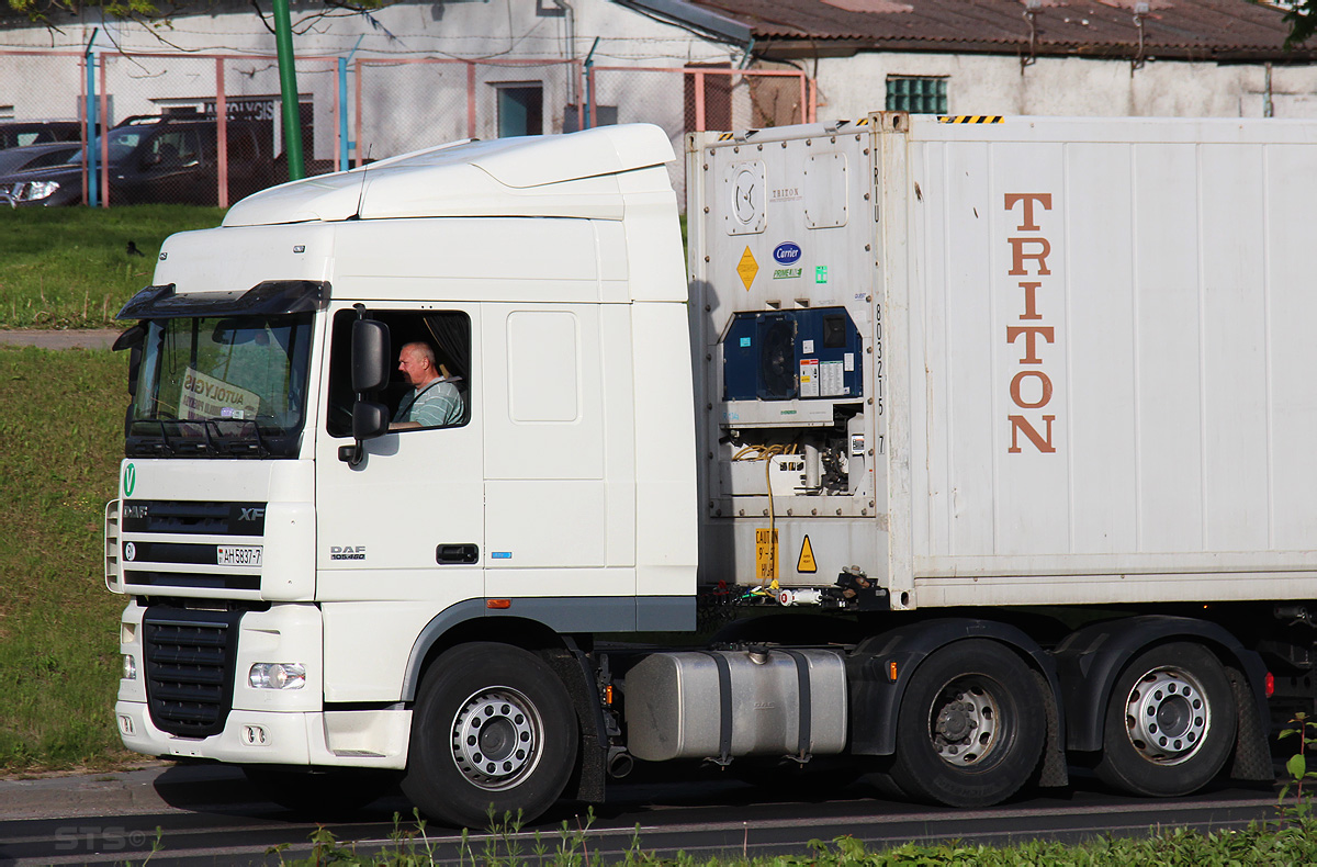
[[[216,123],[204,116],[129,117],[109,130],[109,203],[219,202]],[[274,130],[269,123],[228,121],[228,192],[236,202],[274,183]],[[97,138],[92,148],[104,153]],[[0,203],[63,206],[83,202],[86,155],[61,166],[0,175]],[[99,175],[99,173],[97,173]]]

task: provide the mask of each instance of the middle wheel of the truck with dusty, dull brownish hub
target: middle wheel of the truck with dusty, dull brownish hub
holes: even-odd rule
[[[915,800],[989,806],[1034,775],[1046,735],[1029,665],[997,642],[960,640],[928,656],[906,688],[892,779]]]

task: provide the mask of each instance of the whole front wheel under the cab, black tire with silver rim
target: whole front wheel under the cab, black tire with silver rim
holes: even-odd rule
[[[460,644],[421,680],[403,793],[445,825],[479,830],[491,810],[528,822],[566,787],[577,741],[566,688],[539,656]]]

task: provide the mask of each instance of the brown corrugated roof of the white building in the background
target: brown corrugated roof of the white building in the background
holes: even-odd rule
[[[1250,0],[686,0],[749,26],[761,57],[861,50],[1279,63],[1284,11]],[[1026,7],[1026,3],[1029,4]],[[1138,14],[1135,13],[1138,8]],[[1033,26],[1030,22],[1033,13]]]

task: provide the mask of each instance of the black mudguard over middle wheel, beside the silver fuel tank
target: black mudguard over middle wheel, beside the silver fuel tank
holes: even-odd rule
[[[967,638],[1001,642],[1033,663],[1047,709],[1040,785],[1065,785],[1065,709],[1060,702],[1056,665],[1022,630],[992,621],[944,618],[911,623],[867,638],[847,657],[851,686],[851,752],[892,755],[897,748],[897,714],[910,679],[930,654]],[[897,679],[889,679],[892,663]]]

